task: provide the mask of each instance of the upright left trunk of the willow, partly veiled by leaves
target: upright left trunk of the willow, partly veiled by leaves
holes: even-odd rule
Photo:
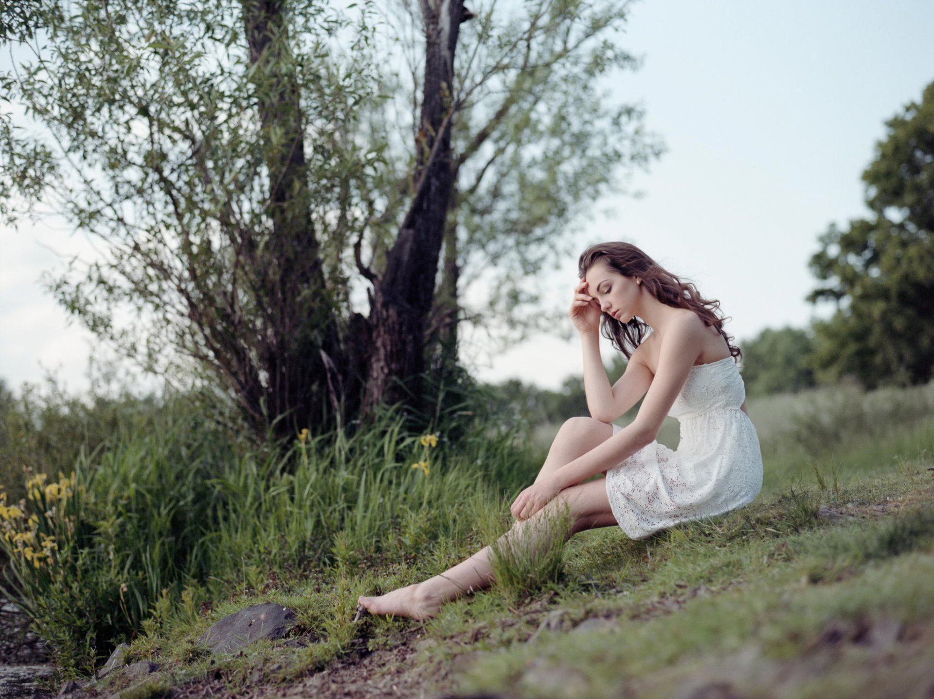
[[[257,302],[268,304],[271,322],[259,340],[258,359],[267,418],[291,410],[277,430],[287,435],[296,427],[317,428],[329,408],[337,409],[343,396],[336,367],[345,363],[311,221],[303,115],[283,2],[244,0],[243,8],[250,63],[259,68],[256,92],[273,224],[260,253],[265,298]],[[326,407],[322,397],[328,396]]]

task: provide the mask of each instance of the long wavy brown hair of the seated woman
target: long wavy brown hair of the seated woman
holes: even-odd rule
[[[713,325],[727,340],[729,356],[743,357],[740,348],[730,342],[733,335],[727,335],[723,330],[723,322],[729,319],[729,316],[723,318],[719,315],[720,302],[703,298],[693,283],[675,277],[631,243],[617,242],[598,243],[584,250],[577,263],[580,277],[584,278],[587,270],[598,260],[603,260],[624,277],[641,279],[643,289],[661,303],[676,308],[687,308],[697,313],[705,325]],[[626,359],[630,359],[632,352],[642,344],[648,329],[648,323],[635,316],[631,321],[624,323],[617,321],[609,313],[603,313],[600,325],[603,336],[613,343],[616,350],[625,354]]]

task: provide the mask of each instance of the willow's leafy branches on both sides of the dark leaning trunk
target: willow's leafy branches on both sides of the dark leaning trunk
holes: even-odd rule
[[[14,128],[0,109],[0,218],[42,201],[104,243],[46,279],[57,300],[149,370],[220,387],[257,434],[356,417],[362,386],[377,385],[364,376],[376,321],[351,292],[387,272],[413,206],[424,85],[416,65],[403,84],[394,62],[410,49],[419,60],[419,39],[404,55],[396,46],[423,36],[417,7],[396,7],[412,22],[401,36],[383,32],[369,0],[16,7],[0,15],[0,41],[25,42],[0,71],[0,106],[21,112]],[[500,314],[518,328],[514,302],[535,297],[523,279],[566,252],[559,239],[619,167],[660,148],[641,109],[598,89],[637,64],[608,38],[627,7],[474,13],[446,86],[458,227],[446,260],[464,268],[461,284],[498,264],[488,312],[460,318]],[[14,21],[41,31],[7,31]],[[446,309],[418,328],[457,321],[448,281]]]

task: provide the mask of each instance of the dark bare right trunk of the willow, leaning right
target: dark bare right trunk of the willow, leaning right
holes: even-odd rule
[[[454,182],[450,118],[462,6],[462,0],[421,0],[426,48],[416,190],[389,250],[386,272],[374,284],[372,355],[363,399],[368,414],[382,402],[418,407],[420,400],[425,330]]]

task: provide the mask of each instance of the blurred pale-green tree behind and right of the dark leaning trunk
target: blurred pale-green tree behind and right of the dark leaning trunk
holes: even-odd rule
[[[417,104],[424,49],[412,3],[391,7],[399,10],[393,36],[411,37],[403,48],[410,78],[387,91],[399,114]],[[457,361],[460,322],[488,332],[495,324],[491,335],[506,343],[563,320],[563,310],[528,312],[538,301],[536,274],[573,254],[574,224],[603,193],[622,190],[622,165],[645,166],[664,151],[641,127],[643,110],[601,88],[640,63],[608,38],[628,19],[629,2],[471,7],[475,19],[460,34],[466,58],[455,66],[454,190],[429,321],[435,368]],[[404,173],[404,152],[397,156]],[[492,291],[466,304],[478,284]]]

